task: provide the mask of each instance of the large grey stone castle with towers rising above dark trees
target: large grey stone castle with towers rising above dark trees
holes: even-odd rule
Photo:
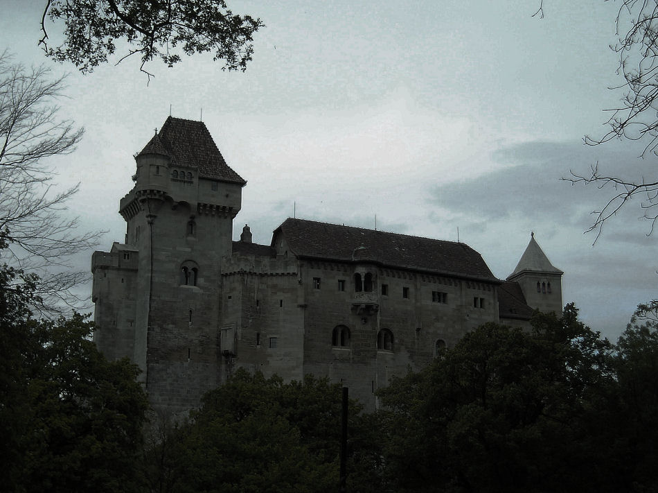
[[[562,310],[562,271],[531,237],[508,279],[459,242],[288,218],[258,245],[233,219],[247,183],[204,123],[168,117],[136,155],[123,243],[94,252],[94,340],[179,413],[238,367],[375,390],[494,321]]]

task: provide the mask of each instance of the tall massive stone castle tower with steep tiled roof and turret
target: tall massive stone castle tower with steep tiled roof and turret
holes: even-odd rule
[[[94,338],[141,367],[154,408],[176,413],[222,379],[221,259],[246,182],[200,121],[170,116],[135,161],[125,244],[92,259]]]

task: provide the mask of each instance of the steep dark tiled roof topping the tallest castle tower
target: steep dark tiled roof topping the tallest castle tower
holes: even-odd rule
[[[247,183],[226,164],[202,121],[169,116],[160,132],[146,144],[139,155],[150,153],[168,155],[172,158],[172,165],[195,168],[202,178],[215,178],[242,185]]]

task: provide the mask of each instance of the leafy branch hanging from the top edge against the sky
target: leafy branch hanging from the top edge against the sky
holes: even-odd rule
[[[64,42],[51,46],[46,19],[64,24]],[[141,69],[154,59],[171,67],[181,53],[213,53],[224,69],[247,69],[253,35],[263,22],[236,15],[224,0],[48,0],[42,16],[40,44],[46,55],[69,61],[83,73],[108,61],[121,44],[121,60],[141,57]]]

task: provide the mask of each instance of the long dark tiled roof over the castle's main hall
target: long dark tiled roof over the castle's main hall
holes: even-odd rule
[[[382,266],[499,282],[481,255],[464,243],[287,218],[274,231],[272,246],[279,232],[298,257],[363,260]]]

